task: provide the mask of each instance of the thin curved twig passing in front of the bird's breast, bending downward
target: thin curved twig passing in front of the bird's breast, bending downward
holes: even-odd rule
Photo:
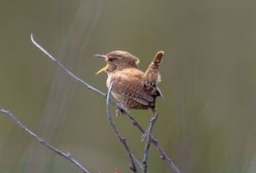
[[[135,164],[135,161],[134,161],[135,156],[133,156],[130,148],[128,147],[128,145],[126,143],[125,138],[121,136],[119,130],[116,128],[115,124],[113,123],[112,114],[111,114],[110,109],[109,109],[109,98],[110,98],[110,93],[111,93],[111,90],[112,90],[112,84],[113,84],[113,82],[109,86],[109,90],[107,92],[107,99],[106,99],[107,120],[108,120],[111,128],[115,131],[116,136],[119,138],[121,144],[123,145],[125,151],[127,152],[128,156],[129,156],[130,163],[131,163],[131,165],[130,165],[131,170],[133,172],[137,172],[137,167],[136,167],[136,164]]]

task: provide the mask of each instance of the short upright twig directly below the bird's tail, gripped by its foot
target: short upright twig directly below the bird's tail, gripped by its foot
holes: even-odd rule
[[[146,144],[144,147],[144,154],[143,154],[143,160],[142,160],[142,171],[143,173],[147,173],[147,167],[148,167],[148,158],[149,158],[149,149],[150,149],[150,145],[151,145],[151,141],[152,141],[152,130],[154,128],[155,125],[155,121],[157,119],[158,114],[155,113],[155,108],[152,110],[153,114],[151,117],[151,121],[149,124],[149,128],[146,130]]]

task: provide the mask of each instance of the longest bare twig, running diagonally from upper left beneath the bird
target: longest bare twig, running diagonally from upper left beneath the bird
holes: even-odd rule
[[[68,74],[71,78],[75,78],[78,82],[82,83],[82,85],[83,85],[85,88],[87,88],[87,89],[89,89],[89,90],[91,90],[91,91],[93,91],[93,92],[95,92],[95,93],[97,93],[97,94],[99,94],[99,95],[101,95],[101,96],[103,96],[103,97],[105,97],[105,98],[107,97],[107,95],[104,94],[104,93],[102,93],[100,90],[98,90],[98,89],[96,89],[95,87],[91,86],[90,84],[86,83],[86,82],[83,81],[81,78],[78,78],[77,76],[75,76],[75,75],[74,75],[72,72],[70,72],[66,67],[64,67],[64,65],[63,65],[60,61],[57,61],[53,56],[51,56],[51,55],[46,51],[46,49],[45,49],[42,45],[40,45],[39,43],[36,43],[36,41],[34,40],[32,34],[31,34],[30,36],[31,36],[31,42],[32,42],[33,44],[35,44],[42,52],[44,52],[44,53],[46,54],[46,56],[49,58],[49,60],[54,61],[59,67],[61,67],[61,68],[64,70],[64,72],[65,72],[66,74]],[[114,106],[119,106],[112,98],[109,98],[109,101],[110,101],[110,103],[113,104]],[[143,129],[141,128],[141,126],[137,123],[137,121],[136,121],[131,115],[127,114],[127,116],[128,116],[128,118],[129,118],[129,120],[134,124],[134,126],[137,127],[138,130],[140,130],[142,133],[145,132],[145,130],[143,130]],[[169,165],[174,169],[174,171],[175,171],[176,173],[180,173],[179,169],[178,169],[177,166],[174,164],[174,161],[166,154],[166,152],[164,151],[164,149],[163,149],[162,147],[160,147],[158,141],[157,141],[153,136],[152,136],[152,143],[154,144],[154,146],[156,147],[156,149],[157,149],[158,152],[160,153],[161,159],[162,159],[163,161],[165,161],[167,164],[169,164]]]

